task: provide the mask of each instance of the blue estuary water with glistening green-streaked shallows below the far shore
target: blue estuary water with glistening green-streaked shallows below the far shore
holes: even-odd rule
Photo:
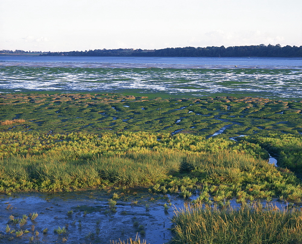
[[[0,92],[302,98],[302,58],[0,56]]]

